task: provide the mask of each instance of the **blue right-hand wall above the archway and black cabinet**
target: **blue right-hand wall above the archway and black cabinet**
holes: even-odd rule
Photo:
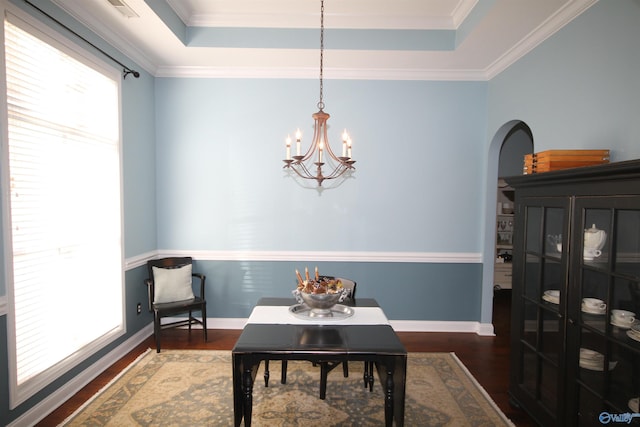
[[[640,158],[640,2],[600,1],[489,82],[489,138],[517,119],[535,151]]]

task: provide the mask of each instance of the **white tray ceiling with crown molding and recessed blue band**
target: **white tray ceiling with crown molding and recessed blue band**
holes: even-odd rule
[[[154,76],[318,77],[319,0],[52,1]],[[488,80],[596,1],[325,0],[324,77]]]

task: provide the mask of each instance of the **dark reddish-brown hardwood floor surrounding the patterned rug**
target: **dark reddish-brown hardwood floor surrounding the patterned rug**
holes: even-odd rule
[[[498,291],[494,298],[494,337],[444,332],[399,332],[398,336],[410,352],[454,352],[511,421],[517,426],[535,426],[526,413],[509,404],[510,313],[510,291]],[[170,329],[163,331],[162,348],[231,350],[239,334],[239,330],[211,329],[208,342],[204,343],[201,333],[197,331],[192,333],[190,339],[187,331]],[[153,337],[149,337],[126,357],[115,362],[91,384],[44,418],[38,426],[58,425],[147,348],[155,348]]]

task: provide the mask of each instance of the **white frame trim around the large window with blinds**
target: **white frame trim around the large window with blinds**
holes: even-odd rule
[[[0,38],[2,42],[2,49],[0,49],[0,120],[2,120],[2,133],[0,135],[1,146],[1,181],[2,181],[2,227],[4,236],[4,270],[5,270],[5,283],[6,283],[6,306],[8,311],[7,318],[7,341],[8,341],[8,361],[9,361],[9,405],[11,409],[16,408],[21,403],[25,402],[28,398],[32,397],[44,387],[51,384],[60,376],[69,372],[69,370],[78,363],[86,360],[95,354],[98,350],[104,348],[104,346],[115,341],[118,337],[123,336],[126,333],[126,310],[125,310],[125,274],[124,274],[124,216],[123,216],[123,161],[122,161],[122,76],[119,69],[116,69],[109,64],[106,64],[101,59],[93,56],[85,49],[72,42],[71,40],[63,37],[61,34],[54,31],[52,28],[47,27],[40,21],[34,19],[30,15],[24,13],[19,8],[7,3],[4,0],[0,0],[0,10],[3,13],[2,28],[0,28]],[[10,188],[9,188],[9,153],[8,153],[8,110],[7,110],[7,88],[6,88],[6,64],[5,64],[5,48],[4,48],[4,21],[5,16],[15,25],[18,25],[21,29],[36,35],[38,38],[46,41],[48,44],[55,48],[65,52],[74,59],[83,64],[101,72],[102,74],[110,77],[117,82],[117,96],[118,96],[118,157],[119,157],[119,199],[120,199],[120,292],[122,295],[120,301],[121,316],[118,327],[112,329],[108,333],[95,339],[90,344],[85,345],[76,353],[65,358],[59,363],[52,366],[50,369],[44,371],[42,374],[31,378],[18,386],[17,384],[17,369],[16,369],[16,337],[15,337],[15,311],[14,311],[14,295],[13,295],[13,249],[12,249],[12,237],[11,237],[11,206],[10,206]],[[95,272],[100,274],[99,271]],[[91,286],[91,278],[87,277],[87,294],[86,304],[100,304],[99,291],[92,292],[89,287]],[[1,296],[0,296],[1,297]],[[0,298],[0,302],[1,298]],[[60,309],[64,309],[61,307]],[[73,307],[68,307],[73,309]],[[90,323],[91,318],[79,318],[78,322]]]

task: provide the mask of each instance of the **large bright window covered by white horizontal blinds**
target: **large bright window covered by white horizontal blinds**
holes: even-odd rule
[[[4,25],[14,408],[124,333],[120,79],[13,15]]]

